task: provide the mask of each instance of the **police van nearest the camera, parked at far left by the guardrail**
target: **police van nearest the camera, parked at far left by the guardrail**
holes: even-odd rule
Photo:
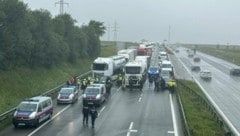
[[[36,96],[22,101],[13,115],[13,125],[31,125],[37,127],[41,122],[50,119],[53,114],[52,98]]]

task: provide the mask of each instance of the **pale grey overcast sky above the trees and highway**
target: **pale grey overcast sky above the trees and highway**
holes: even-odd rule
[[[58,0],[23,0],[31,9],[59,14]],[[240,0],[64,0],[78,25],[90,20],[111,28],[118,41],[240,44]],[[170,26],[170,27],[169,27]],[[169,29],[170,28],[170,29]],[[108,36],[109,35],[109,36]],[[113,40],[114,31],[102,37]]]

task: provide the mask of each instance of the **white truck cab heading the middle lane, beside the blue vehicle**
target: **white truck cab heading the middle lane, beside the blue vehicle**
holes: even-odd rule
[[[142,87],[147,76],[146,64],[142,61],[128,62],[124,66],[124,83],[123,87]],[[140,82],[141,81],[141,82]]]

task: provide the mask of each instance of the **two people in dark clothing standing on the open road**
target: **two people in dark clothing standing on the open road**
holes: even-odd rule
[[[98,112],[94,106],[90,107],[87,105],[83,105],[82,109],[83,113],[83,125],[88,125],[88,118],[91,117],[92,128],[94,128],[95,120],[98,117]]]

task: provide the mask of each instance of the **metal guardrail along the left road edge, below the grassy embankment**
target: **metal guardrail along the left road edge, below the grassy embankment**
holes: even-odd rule
[[[91,74],[91,71],[88,71],[88,72],[86,72],[86,73],[84,73],[84,74],[82,74],[82,75],[80,75],[80,76],[77,76],[77,78],[83,78],[83,77],[85,77],[85,76],[87,76],[87,75],[89,75],[89,74]],[[42,95],[42,96],[51,95],[51,94],[55,93],[56,91],[58,91],[58,90],[59,90],[61,87],[63,87],[65,84],[66,84],[66,83],[62,83],[62,84],[58,85],[57,87],[55,87],[55,88],[53,88],[53,89],[51,89],[51,90],[48,90],[48,91],[42,93],[41,95]],[[16,107],[14,107],[14,108],[12,108],[12,109],[4,112],[3,114],[1,114],[1,115],[0,115],[0,122],[4,121],[4,120],[7,119],[8,117],[11,117],[11,116],[13,115],[13,113],[14,113],[15,110],[16,110]]]

